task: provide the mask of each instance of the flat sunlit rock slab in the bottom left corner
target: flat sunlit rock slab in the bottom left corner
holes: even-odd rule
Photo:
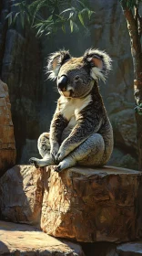
[[[76,243],[56,240],[28,225],[0,221],[0,255],[85,256]]]

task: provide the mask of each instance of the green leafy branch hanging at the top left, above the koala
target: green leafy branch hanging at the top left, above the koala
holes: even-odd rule
[[[60,28],[66,32],[67,25],[71,32],[78,31],[80,25],[87,29],[94,13],[86,0],[18,0],[12,8],[15,10],[6,16],[9,25],[20,19],[22,27],[25,22],[35,27],[38,37],[56,33]]]

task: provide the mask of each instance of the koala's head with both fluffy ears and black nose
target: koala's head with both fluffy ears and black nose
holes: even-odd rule
[[[104,51],[86,50],[83,57],[72,58],[68,51],[51,54],[47,71],[56,80],[57,89],[67,98],[83,98],[95,86],[95,80],[106,80],[111,69],[111,59]]]

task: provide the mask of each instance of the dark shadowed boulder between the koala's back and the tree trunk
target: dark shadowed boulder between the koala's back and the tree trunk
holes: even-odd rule
[[[115,148],[108,165],[137,170],[137,124],[134,104],[125,101],[118,93],[111,93],[106,99],[109,104],[109,118],[113,125]]]

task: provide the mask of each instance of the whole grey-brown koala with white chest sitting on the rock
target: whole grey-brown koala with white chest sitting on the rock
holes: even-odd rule
[[[69,51],[51,54],[47,70],[56,80],[60,98],[50,126],[50,133],[38,139],[39,154],[30,163],[55,165],[60,172],[75,165],[106,165],[113,150],[113,130],[98,88],[106,80],[111,59],[105,51],[90,48],[80,58]]]

